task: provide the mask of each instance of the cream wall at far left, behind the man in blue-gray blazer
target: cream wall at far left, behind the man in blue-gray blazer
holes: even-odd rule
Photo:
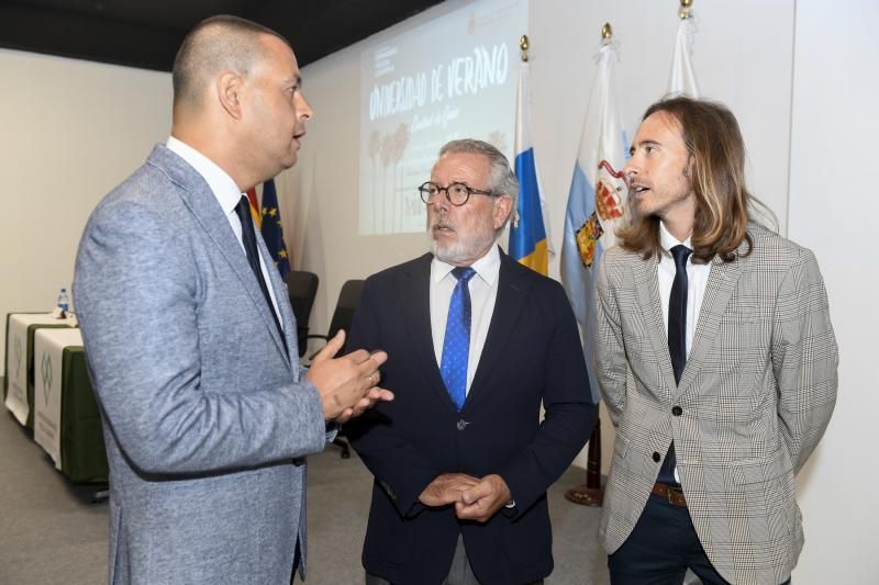
[[[167,136],[171,101],[169,74],[5,49],[0,71],[4,316],[69,291],[89,213]]]

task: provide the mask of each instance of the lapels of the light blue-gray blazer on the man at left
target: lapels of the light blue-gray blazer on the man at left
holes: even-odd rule
[[[232,232],[232,227],[229,225],[229,220],[226,218],[223,210],[220,207],[220,204],[216,201],[213,192],[211,192],[210,187],[204,181],[204,179],[199,175],[192,167],[190,167],[182,158],[175,155],[171,150],[169,150],[164,145],[158,145],[149,155],[148,162],[155,165],[163,169],[168,178],[178,187],[180,187],[180,199],[182,200],[183,204],[189,209],[192,213],[192,216],[196,218],[196,222],[201,226],[208,237],[213,241],[216,249],[220,254],[225,258],[229,266],[235,272],[235,274],[241,280],[242,284],[244,285],[247,294],[251,296],[251,301],[256,305],[256,310],[258,311],[266,328],[268,329],[269,335],[275,340],[275,344],[278,347],[281,356],[287,361],[288,367],[290,365],[290,358],[287,356],[283,345],[281,342],[280,334],[278,333],[278,327],[275,325],[275,319],[271,316],[271,308],[266,303],[265,296],[263,296],[263,291],[259,289],[259,283],[254,278],[253,270],[251,269],[251,265],[247,261],[247,257],[244,254],[244,250],[238,244],[237,238],[235,237],[235,233]],[[257,241],[260,244],[260,251],[265,254],[264,258],[270,258],[268,256],[268,251],[265,248],[265,244],[262,244],[262,238],[257,236]],[[270,270],[268,272],[271,272]],[[283,305],[282,295],[279,292],[278,286],[278,279],[269,277],[271,281],[271,286],[275,291],[275,297],[278,300],[278,305]],[[282,291],[282,290],[281,290]],[[281,311],[283,314],[283,311]],[[288,322],[285,320],[285,328],[288,327]],[[291,328],[294,328],[290,325]],[[289,334],[289,329],[288,334]],[[289,338],[289,335],[288,335]],[[289,347],[296,347],[289,346]]]

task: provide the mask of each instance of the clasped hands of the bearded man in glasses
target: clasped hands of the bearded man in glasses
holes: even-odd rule
[[[459,519],[487,522],[510,497],[510,487],[500,475],[480,480],[464,473],[443,473],[424,488],[419,502],[430,507],[454,504]]]

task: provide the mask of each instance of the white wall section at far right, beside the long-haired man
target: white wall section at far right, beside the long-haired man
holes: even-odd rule
[[[798,477],[798,585],[879,583],[877,22],[872,0],[797,3],[789,234],[817,256],[839,344],[836,410]]]

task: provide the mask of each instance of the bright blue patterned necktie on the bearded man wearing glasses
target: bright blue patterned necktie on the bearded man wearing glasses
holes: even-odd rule
[[[470,267],[457,267],[452,270],[452,274],[458,279],[458,283],[455,285],[452,302],[448,304],[439,374],[446,384],[448,395],[452,396],[452,402],[460,412],[467,396],[467,359],[470,355],[470,319],[472,317],[470,290],[467,283],[474,278],[476,271]]]

